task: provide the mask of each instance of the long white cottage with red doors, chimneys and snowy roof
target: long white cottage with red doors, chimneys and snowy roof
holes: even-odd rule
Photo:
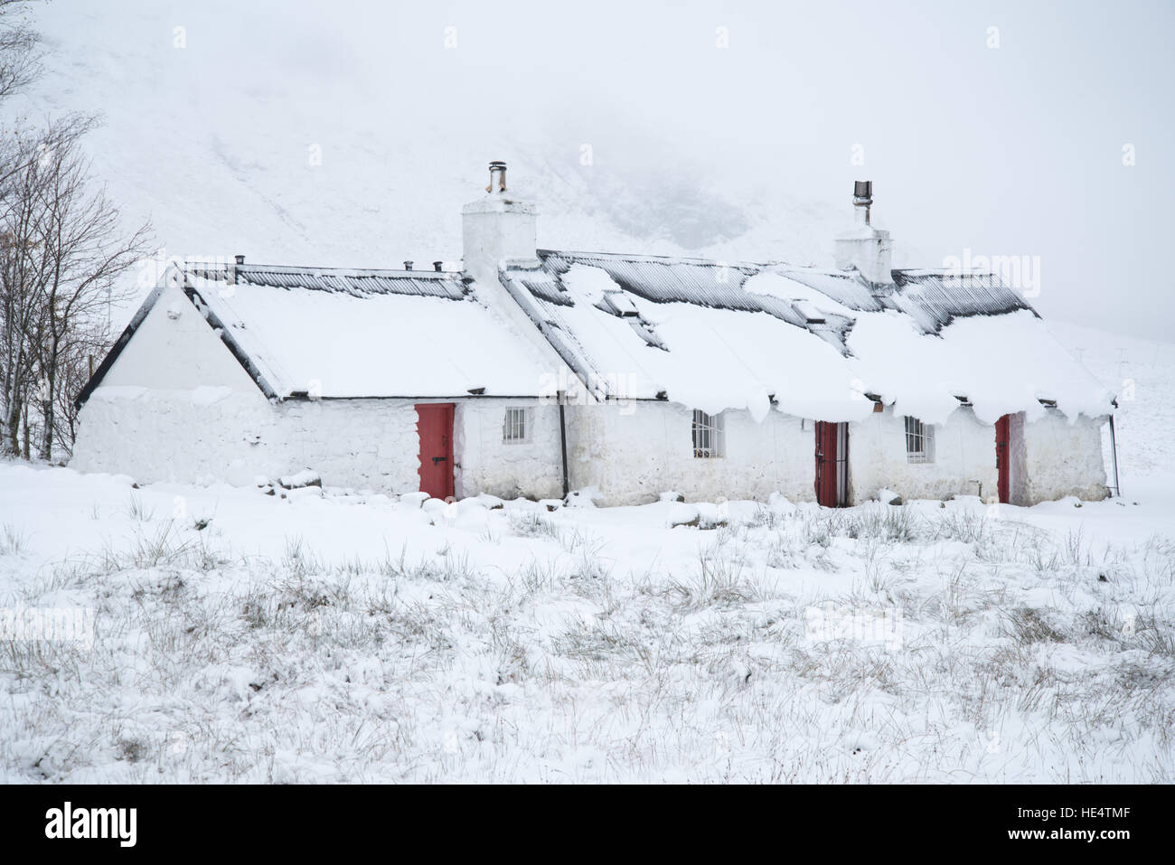
[[[73,465],[600,504],[1107,495],[1112,395],[992,274],[536,248],[504,163],[459,273],[170,267],[80,394]]]

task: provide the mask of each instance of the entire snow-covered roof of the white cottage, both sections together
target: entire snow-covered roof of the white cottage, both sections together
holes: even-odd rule
[[[273,398],[540,396],[564,363],[597,395],[710,413],[772,407],[858,420],[874,400],[938,423],[1055,405],[1097,416],[1112,395],[991,274],[854,273],[539,250],[508,262],[517,310],[468,276],[268,264],[188,264],[189,299]],[[496,295],[499,300],[505,297]],[[129,338],[79,397],[83,402]],[[508,313],[512,313],[508,315]]]

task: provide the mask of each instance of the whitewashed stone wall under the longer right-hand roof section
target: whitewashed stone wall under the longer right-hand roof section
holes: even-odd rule
[[[571,487],[597,487],[605,505],[656,501],[664,490],[687,501],[765,501],[777,490],[792,501],[815,498],[812,421],[772,411],[757,423],[750,413],[726,411],[725,454],[717,460],[693,456],[691,421],[692,413],[676,403],[568,407]],[[1082,417],[1070,425],[1049,413],[1021,423],[1018,432],[1013,418],[1013,503],[1103,498],[1102,422]],[[971,409],[934,427],[927,462],[908,461],[905,416],[892,408],[851,423],[848,440],[851,503],[873,498],[882,487],[906,498],[999,495],[995,428]]]

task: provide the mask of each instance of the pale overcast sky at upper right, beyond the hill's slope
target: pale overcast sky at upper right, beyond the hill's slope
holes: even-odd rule
[[[1175,4],[575,8],[448,18],[486,33],[472,51],[506,94],[558,80],[566,114],[590,99],[583,118],[653,129],[719,181],[839,203],[872,179],[879,219],[928,264],[965,247],[1040,256],[1043,313],[1170,338]]]

